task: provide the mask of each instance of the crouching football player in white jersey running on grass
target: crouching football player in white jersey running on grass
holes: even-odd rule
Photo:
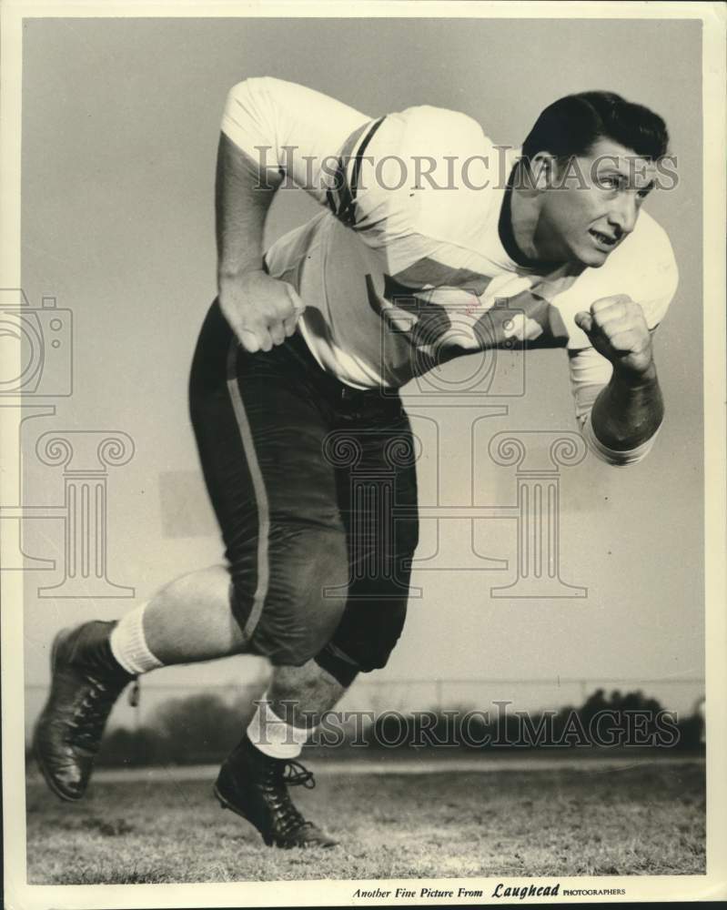
[[[119,622],[58,634],[35,730],[56,794],[84,794],[136,676],[252,652],[273,673],[217,799],[266,844],[335,844],[288,786],[312,783],[302,744],[402,631],[418,526],[397,389],[503,344],[560,348],[591,450],[641,460],[663,416],[651,333],[677,282],[669,239],[641,210],[667,142],[660,116],[608,92],[561,98],[507,150],[449,110],[371,118],[274,78],[231,90],[218,297],[190,381],[226,564]],[[321,211],[264,254],[268,209],[291,185]],[[393,475],[396,502],[351,501],[354,463]]]

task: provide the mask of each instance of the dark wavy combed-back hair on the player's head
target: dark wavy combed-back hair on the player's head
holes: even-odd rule
[[[652,160],[665,155],[669,144],[666,124],[648,107],[613,92],[581,92],[545,108],[522,144],[522,156],[550,152],[563,161],[587,155],[601,136]]]

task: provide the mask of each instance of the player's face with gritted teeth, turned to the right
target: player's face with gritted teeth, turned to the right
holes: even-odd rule
[[[656,166],[600,138],[589,155],[555,166],[544,190],[536,246],[547,257],[599,268],[636,226]]]

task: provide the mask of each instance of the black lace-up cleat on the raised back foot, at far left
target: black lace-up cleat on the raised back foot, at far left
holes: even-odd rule
[[[116,622],[85,622],[58,632],[51,689],[35,724],[33,751],[45,783],[61,799],[79,800],[101,747],[106,720],[135,677],[111,653]]]

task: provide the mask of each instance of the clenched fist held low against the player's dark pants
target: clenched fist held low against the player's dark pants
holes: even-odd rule
[[[222,280],[219,306],[240,344],[251,354],[282,344],[296,330],[305,309],[292,285],[262,270]]]

